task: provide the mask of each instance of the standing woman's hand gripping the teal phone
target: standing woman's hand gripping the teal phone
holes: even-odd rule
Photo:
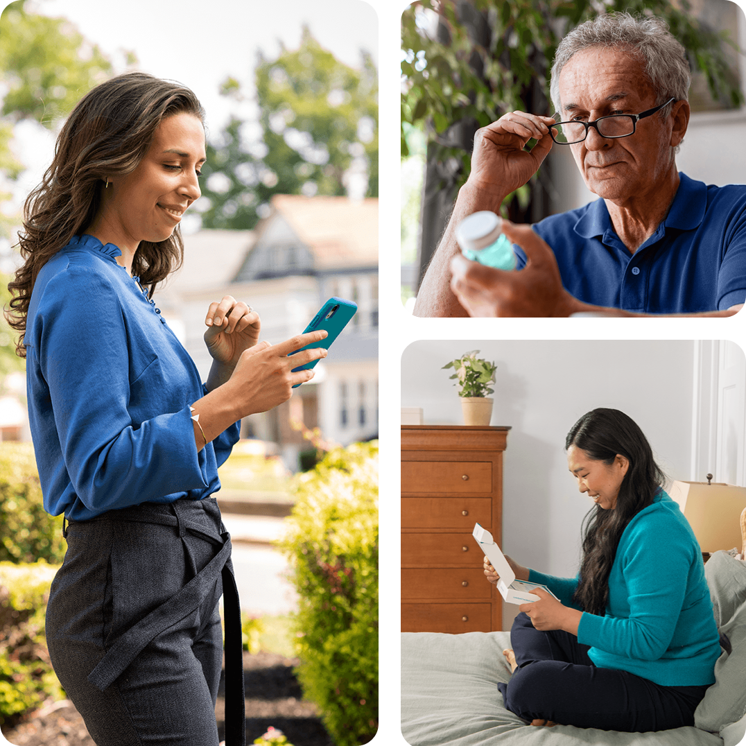
[[[290,353],[327,336],[327,331],[323,329],[310,331],[280,342],[279,345],[270,345],[264,341],[243,351],[228,382],[235,392],[236,403],[244,412],[241,416],[274,409],[292,396],[292,387],[296,383],[311,380],[313,369],[295,373],[292,369],[310,363],[311,360],[327,357],[327,350],[315,347],[294,355]]]

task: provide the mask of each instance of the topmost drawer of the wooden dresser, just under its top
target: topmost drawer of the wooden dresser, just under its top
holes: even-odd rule
[[[489,461],[402,461],[401,492],[492,494]]]

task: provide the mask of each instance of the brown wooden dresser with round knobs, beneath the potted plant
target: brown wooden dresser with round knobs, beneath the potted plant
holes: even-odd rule
[[[502,629],[474,522],[502,544],[510,427],[401,426],[401,631]]]

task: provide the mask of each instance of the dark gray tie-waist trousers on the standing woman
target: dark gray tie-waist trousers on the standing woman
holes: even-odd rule
[[[215,498],[72,522],[51,584],[54,671],[97,746],[218,746],[225,593],[226,742],[245,746],[238,593]]]

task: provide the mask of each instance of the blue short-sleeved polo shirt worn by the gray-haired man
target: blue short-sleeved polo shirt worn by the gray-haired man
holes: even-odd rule
[[[603,199],[533,225],[571,295],[636,313],[700,313],[746,302],[746,186],[679,176],[668,215],[634,254],[615,233]],[[513,248],[522,269],[526,255]]]

